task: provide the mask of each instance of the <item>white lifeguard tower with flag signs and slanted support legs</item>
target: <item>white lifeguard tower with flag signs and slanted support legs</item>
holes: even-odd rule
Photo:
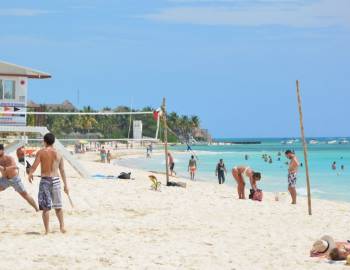
[[[28,79],[49,79],[51,75],[27,67],[0,61],[0,133],[45,135],[47,127],[27,126]],[[9,145],[7,152],[12,152],[26,144],[26,137]],[[74,156],[57,140],[55,147],[83,178],[89,174]]]

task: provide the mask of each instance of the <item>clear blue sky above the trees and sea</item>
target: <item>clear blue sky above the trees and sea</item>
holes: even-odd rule
[[[0,59],[37,102],[197,114],[215,137],[350,136],[350,1],[1,1]]]

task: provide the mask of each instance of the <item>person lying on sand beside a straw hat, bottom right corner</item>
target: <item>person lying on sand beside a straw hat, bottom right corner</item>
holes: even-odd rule
[[[332,261],[346,260],[349,255],[350,243],[335,242],[329,235],[325,235],[317,240],[310,251],[311,257],[327,258]]]

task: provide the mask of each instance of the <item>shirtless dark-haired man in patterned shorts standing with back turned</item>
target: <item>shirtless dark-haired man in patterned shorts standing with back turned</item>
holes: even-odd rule
[[[64,163],[62,156],[53,147],[55,136],[48,133],[44,136],[44,148],[36,154],[33,166],[29,171],[29,182],[33,181],[33,173],[41,165],[41,181],[39,186],[39,208],[43,211],[42,217],[45,227],[45,234],[49,233],[49,217],[52,208],[56,211],[56,216],[60,223],[60,230],[65,233],[62,198],[61,198],[61,181],[59,172],[62,177],[64,192],[69,194]]]

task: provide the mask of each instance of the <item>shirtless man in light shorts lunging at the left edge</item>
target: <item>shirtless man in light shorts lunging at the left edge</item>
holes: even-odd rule
[[[0,144],[0,191],[13,187],[34,209],[39,211],[34,199],[25,190],[22,180],[18,176],[18,168],[15,160],[5,154],[4,145]]]

